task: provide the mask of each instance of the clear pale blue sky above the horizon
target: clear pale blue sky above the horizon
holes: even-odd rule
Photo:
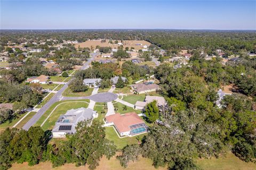
[[[256,1],[1,1],[1,29],[256,29]]]

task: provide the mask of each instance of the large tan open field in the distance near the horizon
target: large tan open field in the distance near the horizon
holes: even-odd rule
[[[90,40],[90,41],[86,41],[86,42],[83,42],[83,43],[78,43],[75,45],[76,48],[78,48],[79,46],[80,47],[89,47],[91,48],[91,46],[93,47],[93,49],[95,49],[95,47],[97,45],[101,46],[101,47],[111,47],[111,48],[116,48],[119,46],[117,44],[110,44],[108,43],[109,41],[107,40],[105,43],[101,43],[101,40]],[[113,40],[113,43],[115,41]],[[118,41],[118,43],[121,43],[121,41]],[[135,45],[135,44],[142,44],[142,45]],[[129,47],[129,49],[131,49],[131,47],[134,47],[135,50],[140,50],[140,49],[143,49],[143,45],[147,45],[149,46],[150,43],[147,42],[147,41],[131,41],[131,40],[125,40],[123,41],[123,46],[124,48],[125,47]]]

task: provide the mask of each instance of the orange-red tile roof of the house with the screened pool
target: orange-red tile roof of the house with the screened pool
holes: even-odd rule
[[[108,123],[113,122],[120,133],[130,131],[130,126],[144,123],[144,121],[135,113],[127,113],[125,115],[114,114],[106,116]]]

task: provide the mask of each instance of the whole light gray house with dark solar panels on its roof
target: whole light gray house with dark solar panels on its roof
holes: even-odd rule
[[[91,124],[94,118],[98,117],[97,111],[89,108],[71,109],[65,115],[61,115],[52,129],[53,137],[65,137],[66,134],[76,133],[78,122],[88,120]]]

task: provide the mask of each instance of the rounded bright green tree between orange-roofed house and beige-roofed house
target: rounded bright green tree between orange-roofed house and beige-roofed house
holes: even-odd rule
[[[148,103],[145,107],[145,115],[149,123],[154,123],[159,117],[159,109],[157,107],[157,101],[154,100],[151,103]]]

